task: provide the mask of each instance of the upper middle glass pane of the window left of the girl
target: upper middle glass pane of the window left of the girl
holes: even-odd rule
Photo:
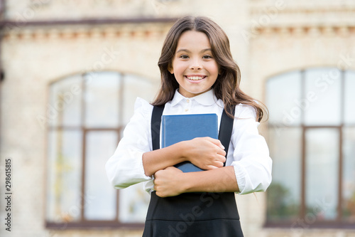
[[[86,127],[119,126],[119,73],[88,73],[85,75]]]

